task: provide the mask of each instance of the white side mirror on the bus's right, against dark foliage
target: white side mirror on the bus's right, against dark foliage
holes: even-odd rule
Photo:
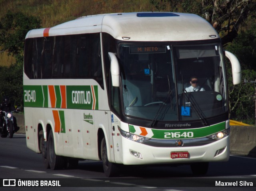
[[[232,76],[233,76],[233,84],[240,84],[241,83],[241,66],[234,54],[229,51],[225,50],[225,55],[230,60],[232,65]]]

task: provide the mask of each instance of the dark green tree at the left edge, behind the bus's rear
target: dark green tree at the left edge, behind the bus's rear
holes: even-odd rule
[[[16,64],[0,67],[0,98],[9,96],[14,104],[23,105],[23,49],[26,33],[40,28],[41,21],[21,12],[10,12],[0,20],[0,53],[7,51],[16,58]]]

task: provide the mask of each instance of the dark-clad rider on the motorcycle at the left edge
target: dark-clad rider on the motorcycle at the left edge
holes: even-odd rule
[[[15,110],[15,108],[14,108],[14,106],[12,106],[10,99],[8,97],[4,97],[2,103],[0,103],[0,129],[3,130],[3,126],[4,126],[3,115],[1,113],[1,111],[11,112],[14,110]],[[20,127],[17,126],[16,118],[14,116],[12,116],[12,118],[13,118],[14,131],[17,132],[20,129]]]

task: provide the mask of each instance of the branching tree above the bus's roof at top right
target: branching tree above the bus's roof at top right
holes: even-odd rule
[[[158,11],[197,14],[212,24],[222,37],[222,44],[232,42],[241,25],[255,16],[256,0],[150,0]]]

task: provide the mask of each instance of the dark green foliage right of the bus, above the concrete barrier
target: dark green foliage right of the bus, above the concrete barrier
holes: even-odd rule
[[[234,53],[241,64],[242,81],[256,80],[256,24],[246,32],[241,32],[233,43],[226,47]],[[232,84],[231,66],[228,65],[230,118],[255,124],[256,83]]]

